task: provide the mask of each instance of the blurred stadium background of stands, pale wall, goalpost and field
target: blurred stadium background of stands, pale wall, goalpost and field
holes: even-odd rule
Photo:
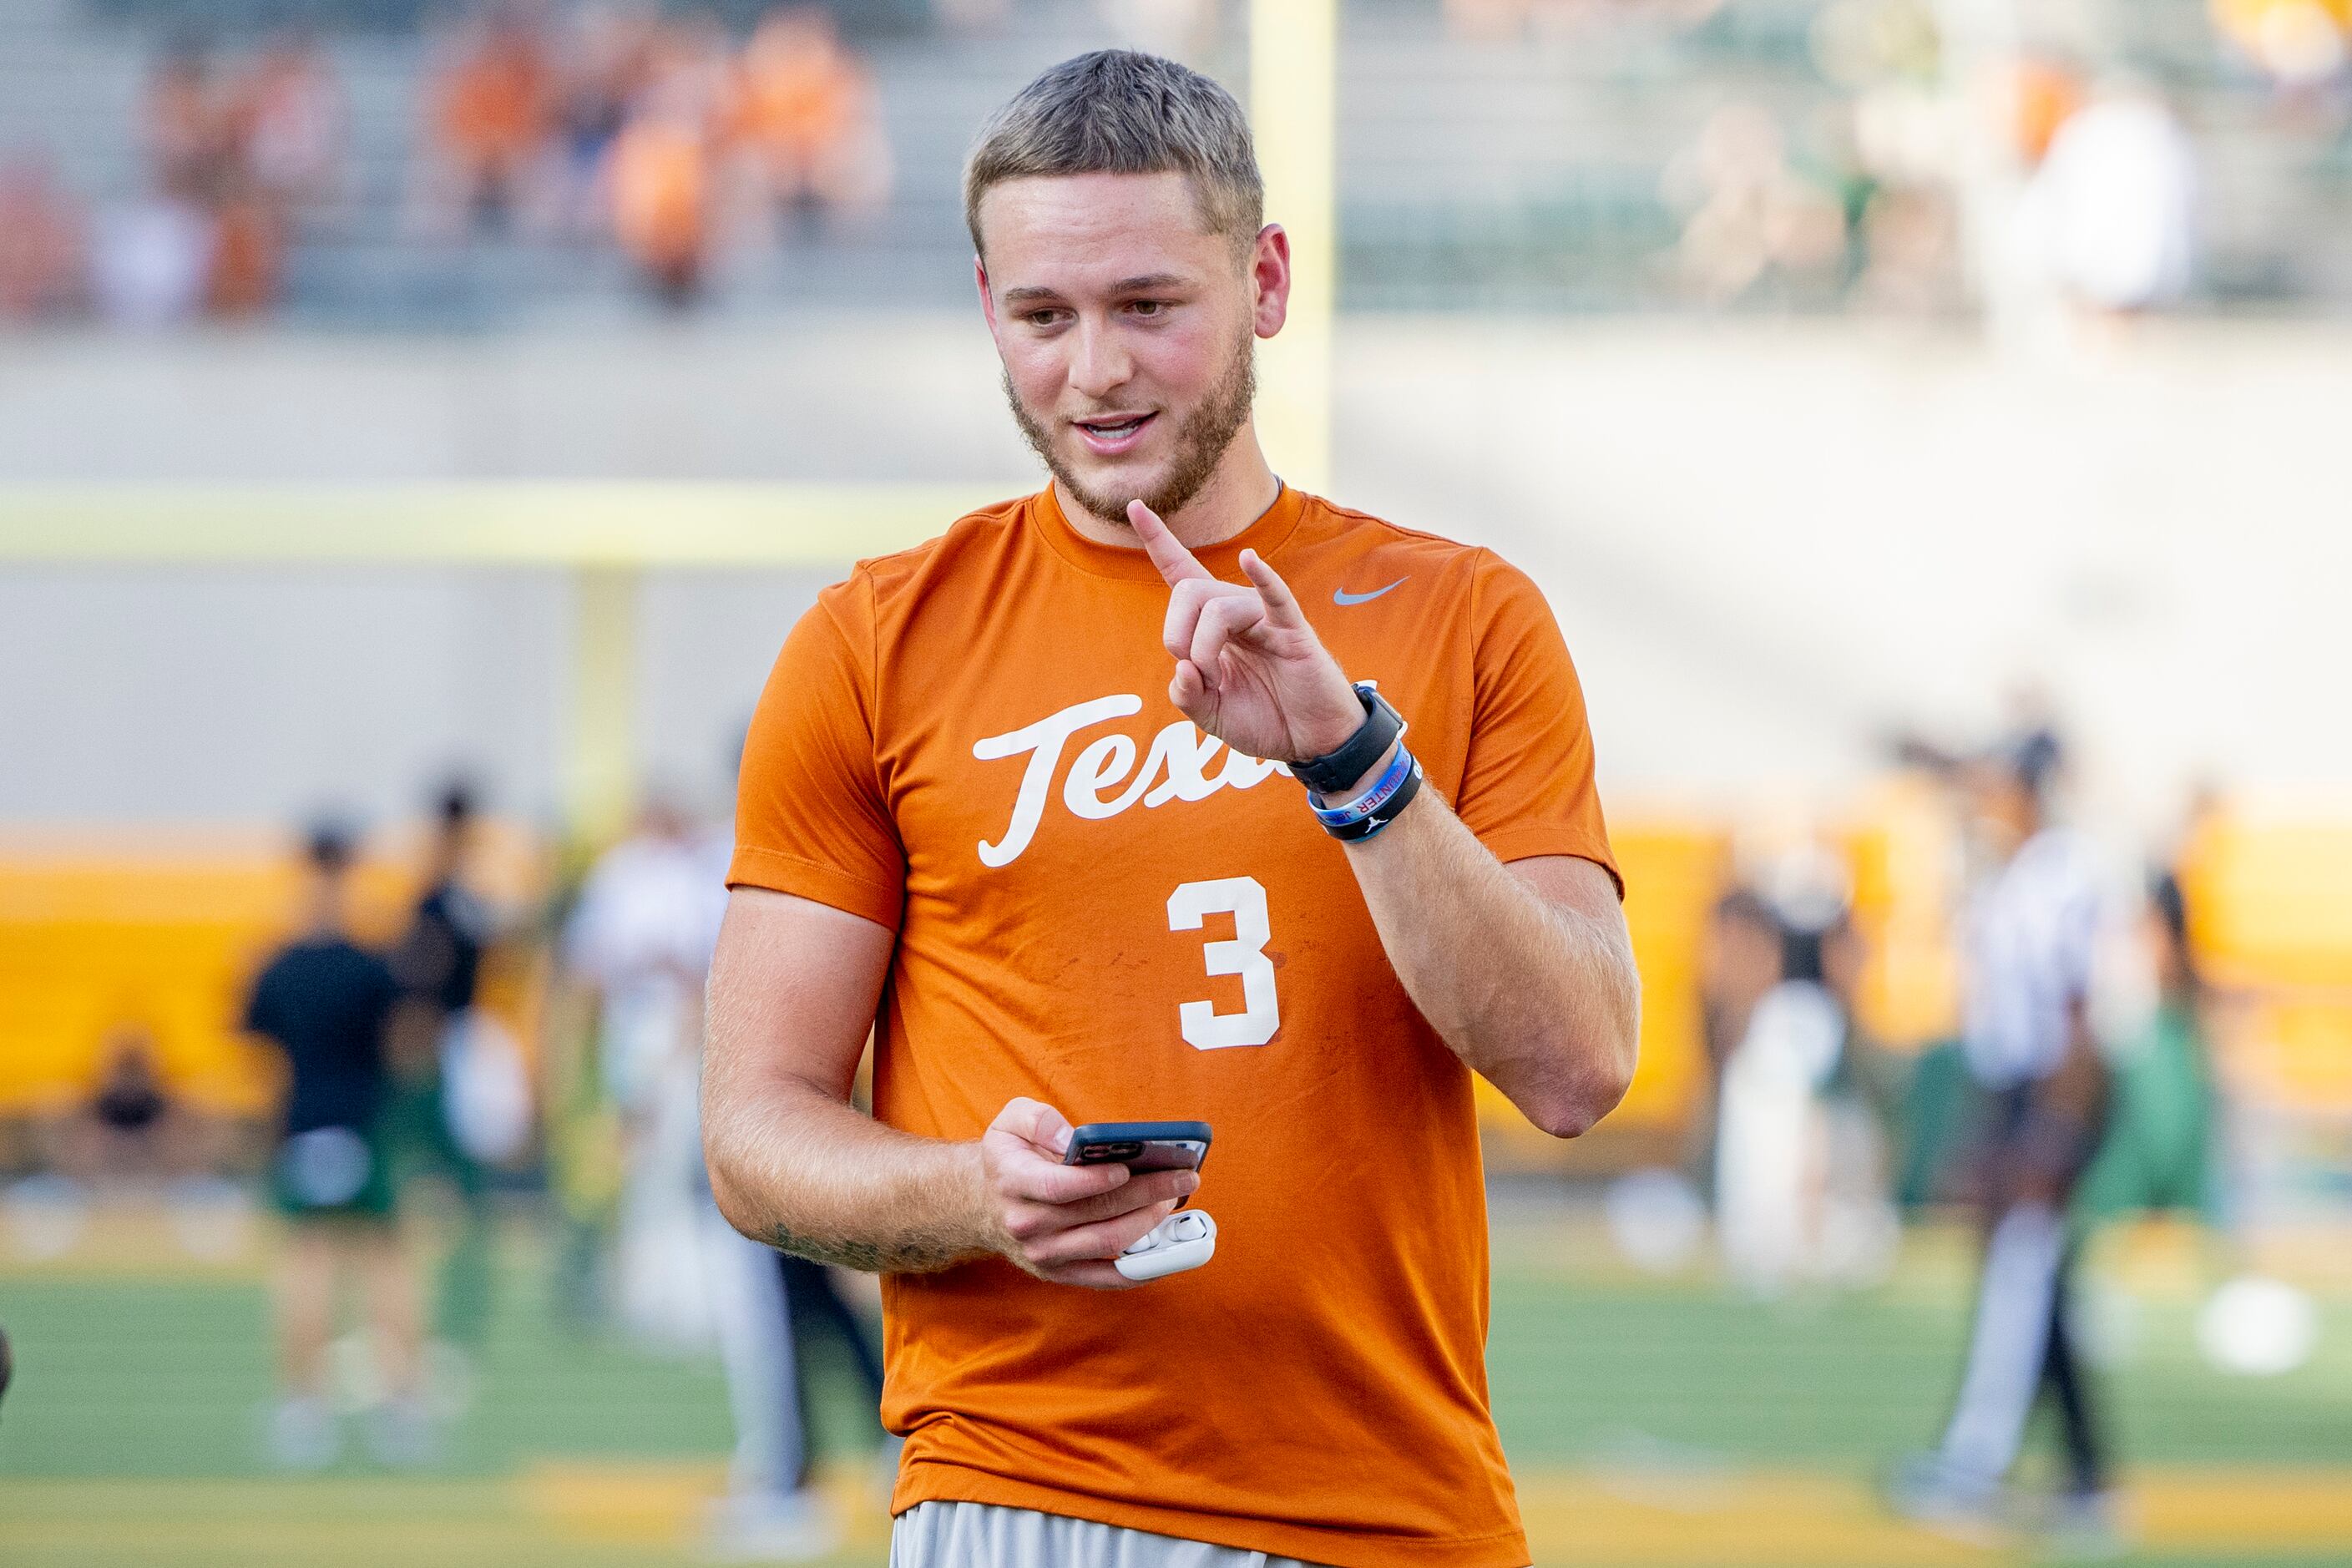
[[[1573,1145],[1484,1119],[1538,1561],[2009,1552],[1891,1523],[1870,1481],[1936,1432],[1973,1246],[1962,823],[1917,764],[2032,724],[2114,863],[2178,872],[2218,999],[2218,1197],[2093,1241],[2133,1561],[2352,1561],[2347,28],[2343,0],[7,0],[0,1556],[696,1559],[727,1403],[706,1342],[604,1305],[623,1117],[560,933],[647,804],[724,818],[818,585],[1037,482],[960,155],[1122,42],[1244,96],[1310,263],[1275,465],[1510,555],[1585,675],[1644,1063]],[[390,940],[452,776],[489,804],[480,1011],[532,1095],[487,1206],[423,1182],[407,1227],[442,1267],[487,1213],[492,1305],[437,1363],[428,1465],[287,1479],[242,994],[299,825],[365,825]],[[1860,1152],[1806,1133],[1823,1194],[1769,1279],[1708,1220],[1755,999],[1733,889],[1844,907],[1856,954]],[[174,1140],[115,1159],[85,1107],[127,1044]],[[830,1561],[880,1563],[877,1432],[818,1361]],[[346,1382],[362,1406],[365,1356]]]

